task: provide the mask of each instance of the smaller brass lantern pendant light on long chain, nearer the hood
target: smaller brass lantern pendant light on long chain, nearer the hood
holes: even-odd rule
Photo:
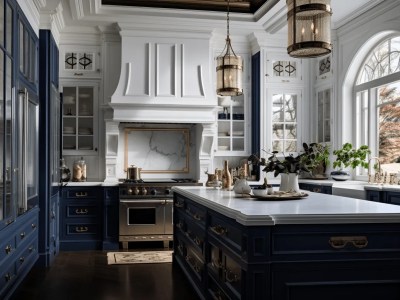
[[[243,60],[232,49],[229,37],[229,0],[227,9],[226,45],[217,57],[217,94],[220,96],[239,96],[243,94]],[[223,54],[225,52],[225,54]]]

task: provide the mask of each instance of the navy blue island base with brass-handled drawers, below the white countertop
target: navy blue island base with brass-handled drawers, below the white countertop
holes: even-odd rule
[[[400,299],[399,236],[400,224],[244,226],[174,194],[174,264],[202,299]]]

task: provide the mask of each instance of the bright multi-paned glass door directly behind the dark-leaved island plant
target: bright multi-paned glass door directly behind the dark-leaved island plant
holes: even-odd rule
[[[297,151],[297,95],[272,95],[272,150]]]

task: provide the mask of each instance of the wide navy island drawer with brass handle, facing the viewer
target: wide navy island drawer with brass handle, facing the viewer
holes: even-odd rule
[[[380,224],[280,226],[272,231],[272,255],[390,255],[400,251],[399,236],[398,224],[389,230]]]

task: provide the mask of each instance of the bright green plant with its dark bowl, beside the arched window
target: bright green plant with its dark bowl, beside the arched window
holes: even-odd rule
[[[333,154],[336,155],[333,167],[339,168],[339,170],[331,172],[332,179],[334,180],[344,181],[350,179],[350,173],[343,170],[343,168],[355,169],[360,166],[368,169],[369,167],[367,157],[371,154],[371,150],[367,145],[362,145],[358,149],[355,149],[352,144],[345,143],[341,149],[334,150]]]

